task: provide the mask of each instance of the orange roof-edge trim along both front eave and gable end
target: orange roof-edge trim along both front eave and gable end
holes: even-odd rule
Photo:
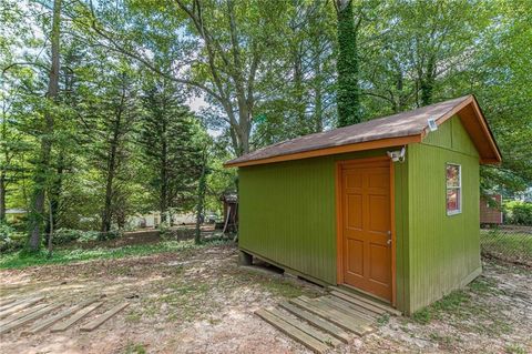
[[[460,121],[470,135],[473,144],[477,146],[480,155],[480,163],[482,164],[499,164],[502,161],[501,153],[493,138],[493,134],[488,127],[485,118],[473,95],[469,95],[466,100],[453,107],[451,110],[440,115],[436,123],[438,125],[444,123],[448,119],[458,115]],[[339,153],[365,151],[383,149],[398,145],[407,145],[411,143],[419,143],[428,134],[429,128],[426,127],[420,133],[386,138],[379,140],[370,140],[364,142],[357,142],[345,145],[328,146],[324,149],[308,150],[295,153],[278,154],[275,156],[268,156],[264,159],[254,159],[246,161],[228,161],[224,164],[225,168],[243,168],[266,163],[275,163],[291,160],[301,160],[308,158],[317,158],[325,155],[332,155]]]

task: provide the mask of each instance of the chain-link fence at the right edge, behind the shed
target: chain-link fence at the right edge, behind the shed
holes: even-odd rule
[[[480,230],[482,256],[532,266],[532,225]]]

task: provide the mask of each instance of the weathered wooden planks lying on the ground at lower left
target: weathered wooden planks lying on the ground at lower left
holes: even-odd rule
[[[21,330],[22,334],[30,335],[50,328],[50,332],[63,332],[83,322],[100,306],[105,309],[103,302],[96,299],[68,305],[66,303],[47,303],[47,299],[28,297],[20,300],[4,300],[0,306],[0,335]],[[125,309],[129,303],[119,303],[96,315],[92,321],[82,325],[81,331],[94,331],[108,320]]]

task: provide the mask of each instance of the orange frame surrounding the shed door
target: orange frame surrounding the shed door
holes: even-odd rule
[[[397,306],[397,284],[396,284],[396,252],[397,252],[397,237],[396,237],[396,184],[395,184],[395,170],[393,162],[388,156],[376,156],[366,159],[351,159],[337,161],[335,165],[335,194],[336,194],[336,283],[337,285],[344,284],[344,235],[341,227],[341,168],[344,164],[358,163],[358,162],[375,162],[375,161],[389,161],[390,164],[390,229],[391,229],[391,302],[390,305]],[[368,293],[368,295],[371,295]],[[377,299],[380,299],[376,296]]]

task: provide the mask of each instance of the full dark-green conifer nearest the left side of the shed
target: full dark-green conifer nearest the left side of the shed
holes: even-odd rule
[[[141,144],[150,166],[150,190],[156,195],[161,222],[170,209],[186,210],[193,200],[201,170],[200,140],[204,134],[196,117],[180,100],[175,82],[154,78],[143,94]]]

